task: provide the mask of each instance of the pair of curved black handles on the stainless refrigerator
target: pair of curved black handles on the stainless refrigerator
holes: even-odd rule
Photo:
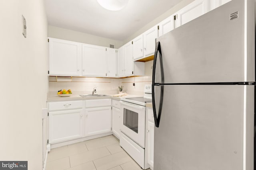
[[[159,61],[160,61],[160,72],[161,72],[161,83],[164,83],[164,69],[163,69],[163,60],[162,60],[162,51],[160,42],[156,42],[156,49],[154,54],[154,63],[153,63],[153,75],[152,75],[152,105],[153,105],[153,112],[154,112],[154,121],[156,127],[159,127],[161,113],[162,113],[162,105],[163,105],[163,98],[164,98],[164,86],[160,85],[159,83],[155,82],[156,76],[156,59],[159,52]],[[159,108],[158,108],[158,115],[156,114],[156,102],[155,102],[155,86],[160,85],[160,101],[159,101]]]

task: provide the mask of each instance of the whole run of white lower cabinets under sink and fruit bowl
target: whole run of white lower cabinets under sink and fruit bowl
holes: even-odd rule
[[[48,113],[49,144],[111,134],[109,98],[48,102]]]

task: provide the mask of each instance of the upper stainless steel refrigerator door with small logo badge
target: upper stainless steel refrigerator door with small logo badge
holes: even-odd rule
[[[158,37],[162,83],[254,82],[254,23],[254,0],[232,0]]]

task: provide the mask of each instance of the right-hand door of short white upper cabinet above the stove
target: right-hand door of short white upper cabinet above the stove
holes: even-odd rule
[[[155,52],[155,39],[158,36],[157,25],[143,33],[143,49],[144,49],[144,57],[149,57],[154,55]]]

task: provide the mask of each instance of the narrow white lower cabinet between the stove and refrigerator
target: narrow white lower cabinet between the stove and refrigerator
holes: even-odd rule
[[[153,109],[146,107],[146,161],[150,169],[154,168],[154,114]]]

